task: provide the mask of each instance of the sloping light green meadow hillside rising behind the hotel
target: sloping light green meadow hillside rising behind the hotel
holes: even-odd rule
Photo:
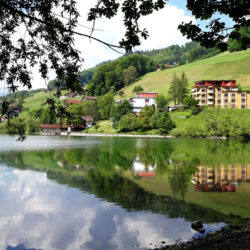
[[[134,96],[133,88],[140,85],[145,91],[155,91],[167,95],[173,74],[183,71],[189,79],[189,87],[198,80],[235,79],[244,89],[250,90],[250,49],[234,53],[221,53],[217,56],[195,61],[183,66],[146,74],[137,82],[123,89],[124,98]],[[117,99],[120,97],[117,96]]]

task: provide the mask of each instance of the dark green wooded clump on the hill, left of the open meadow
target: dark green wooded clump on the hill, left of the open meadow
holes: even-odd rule
[[[151,71],[153,63],[146,56],[131,55],[119,58],[98,68],[87,86],[87,93],[100,96],[109,92],[111,87],[114,91],[118,91],[125,85],[131,84],[137,76]]]

